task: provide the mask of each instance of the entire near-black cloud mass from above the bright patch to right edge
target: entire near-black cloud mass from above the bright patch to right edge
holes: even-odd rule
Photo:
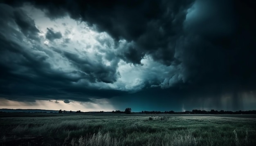
[[[193,1],[104,2],[35,5],[46,9],[52,18],[68,12],[74,19],[81,17],[96,24],[99,31],[106,31],[116,40],[133,41],[120,51],[126,62],[139,64],[145,54],[150,54],[166,65],[180,62],[184,81],[190,84],[254,84],[255,11],[248,3],[198,0],[199,14],[189,20],[187,10]],[[49,9],[54,6],[58,7]]]

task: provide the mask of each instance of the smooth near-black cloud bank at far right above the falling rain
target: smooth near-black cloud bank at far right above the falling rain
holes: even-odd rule
[[[255,87],[255,12],[242,1],[200,2],[206,14],[187,22],[177,50],[187,81]]]

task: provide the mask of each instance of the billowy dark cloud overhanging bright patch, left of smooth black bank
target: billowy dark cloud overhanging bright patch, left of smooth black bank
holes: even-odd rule
[[[186,10],[193,0],[110,0],[110,1],[30,1],[55,19],[67,14],[106,31],[116,41],[134,41],[119,54],[126,62],[140,64],[145,54],[170,65],[175,61],[175,43],[182,33]],[[20,2],[7,2],[14,5]]]

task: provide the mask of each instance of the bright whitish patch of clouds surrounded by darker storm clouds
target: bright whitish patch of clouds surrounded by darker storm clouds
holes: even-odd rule
[[[176,71],[173,66],[155,62],[149,55],[141,60],[143,65],[126,63],[117,57],[119,51],[122,51],[126,46],[133,45],[133,42],[119,40],[119,45],[115,45],[114,39],[108,33],[97,32],[95,26],[90,27],[86,22],[73,20],[68,15],[51,20],[45,17],[43,11],[29,5],[25,6],[23,10],[29,13],[29,16],[35,21],[36,27],[40,30],[40,36],[43,36],[42,41],[45,44],[42,47],[45,51],[51,52],[48,54],[47,61],[52,68],[69,77],[79,79],[72,84],[132,92],[141,90],[147,82],[163,88],[171,86],[169,80],[172,78],[170,79],[169,76],[173,76],[174,71]],[[62,37],[48,40],[46,38],[48,29],[55,34],[61,33]],[[117,76],[115,82],[111,84],[99,80],[89,82],[90,74],[84,70],[87,70],[88,67],[97,66],[104,69],[113,68],[114,72],[117,72],[113,73]],[[94,71],[94,69],[92,70]],[[110,74],[111,76],[112,74]],[[178,79],[173,83],[176,81]]]

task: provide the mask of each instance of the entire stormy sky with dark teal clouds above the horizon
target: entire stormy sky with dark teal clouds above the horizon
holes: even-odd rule
[[[254,110],[254,0],[0,0],[0,108]]]

